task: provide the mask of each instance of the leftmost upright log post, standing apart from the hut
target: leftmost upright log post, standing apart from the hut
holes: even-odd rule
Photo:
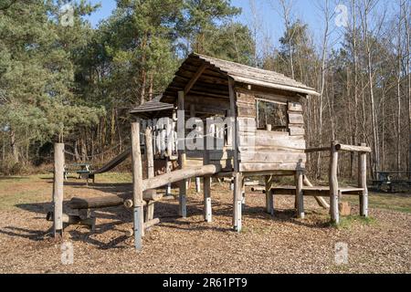
[[[53,185],[53,235],[63,236],[63,197],[64,197],[64,144],[54,144],[54,185]]]

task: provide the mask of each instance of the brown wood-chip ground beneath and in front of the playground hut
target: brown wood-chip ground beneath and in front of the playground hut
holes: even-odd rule
[[[94,233],[69,226],[65,241],[73,245],[74,263],[61,263],[61,245],[47,235],[45,216],[52,181],[2,183],[7,193],[24,195],[12,206],[0,208],[0,273],[410,273],[411,214],[371,209],[372,220],[350,219],[336,228],[327,212],[306,199],[304,220],[294,218],[293,198],[276,201],[274,218],[264,213],[265,197],[248,190],[244,231],[231,230],[232,193],[228,185],[213,185],[213,223],[203,220],[202,194],[190,191],[188,218],[178,218],[177,201],[158,203],[161,218],[144,237],[137,253],[125,231],[132,214],[123,207],[96,211]],[[131,185],[97,183],[86,187],[71,180],[65,197],[121,196]],[[353,206],[353,214],[358,209]],[[337,265],[335,245],[348,245],[348,264]]]

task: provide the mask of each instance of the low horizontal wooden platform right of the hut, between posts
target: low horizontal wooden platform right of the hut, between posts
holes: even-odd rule
[[[271,189],[271,194],[273,195],[295,195],[295,186],[285,186],[285,187],[275,187]],[[342,187],[338,189],[341,194],[348,195],[362,195],[364,189],[356,187]],[[314,186],[314,187],[303,187],[302,192],[305,196],[319,196],[319,197],[329,197],[330,187],[328,186]]]

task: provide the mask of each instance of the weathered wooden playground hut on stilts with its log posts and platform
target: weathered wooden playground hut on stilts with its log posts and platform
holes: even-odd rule
[[[212,178],[233,181],[233,226],[237,232],[242,229],[245,179],[248,177],[265,178],[266,211],[269,214],[274,214],[274,195],[292,194],[296,198],[297,216],[304,218],[304,195],[313,195],[322,207],[330,207],[332,222],[338,224],[339,198],[348,193],[359,195],[361,214],[367,216],[366,153],[371,149],[364,144],[351,146],[336,141],[331,147],[307,149],[301,99],[309,95],[319,94],[281,74],[212,57],[190,55],[162,97],[132,110],[135,118],[131,149],[132,200],[122,203],[132,208],[133,230],[130,234],[134,235],[135,248],[142,249],[142,236],[147,226],[158,222],[153,219],[153,203],[158,202],[153,197],[155,190],[179,183],[179,214],[185,217],[187,181],[201,177],[204,179],[204,218],[208,223],[212,222]],[[214,127],[195,128],[195,137],[185,130],[185,122],[190,118],[205,121],[213,117],[226,120],[217,122]],[[169,118],[169,122],[159,122],[161,118]],[[194,151],[186,147],[185,142],[198,139],[203,143],[211,140],[215,142],[213,145],[223,147]],[[56,147],[62,146],[57,144]],[[305,177],[307,153],[312,151],[330,151],[330,187],[314,187]],[[338,185],[339,151],[360,153],[359,185],[355,188],[346,189]],[[59,165],[64,157],[59,156],[60,152],[55,151],[53,218],[56,233],[62,230],[63,214],[63,181],[59,178]],[[154,157],[166,160],[165,173],[155,176]],[[146,179],[142,172],[144,160],[147,162]],[[178,170],[169,167],[175,161],[178,161]],[[110,167],[103,168],[104,171],[108,169]],[[295,185],[273,188],[276,176],[292,176]],[[330,197],[330,203],[322,198],[325,196]],[[117,199],[113,203],[121,204]],[[90,208],[91,205],[83,202],[81,206]]]

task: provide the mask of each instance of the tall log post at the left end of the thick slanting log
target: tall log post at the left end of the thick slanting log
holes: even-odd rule
[[[142,203],[142,151],[140,149],[140,119],[132,123],[132,203],[134,247],[142,250],[143,203]]]

